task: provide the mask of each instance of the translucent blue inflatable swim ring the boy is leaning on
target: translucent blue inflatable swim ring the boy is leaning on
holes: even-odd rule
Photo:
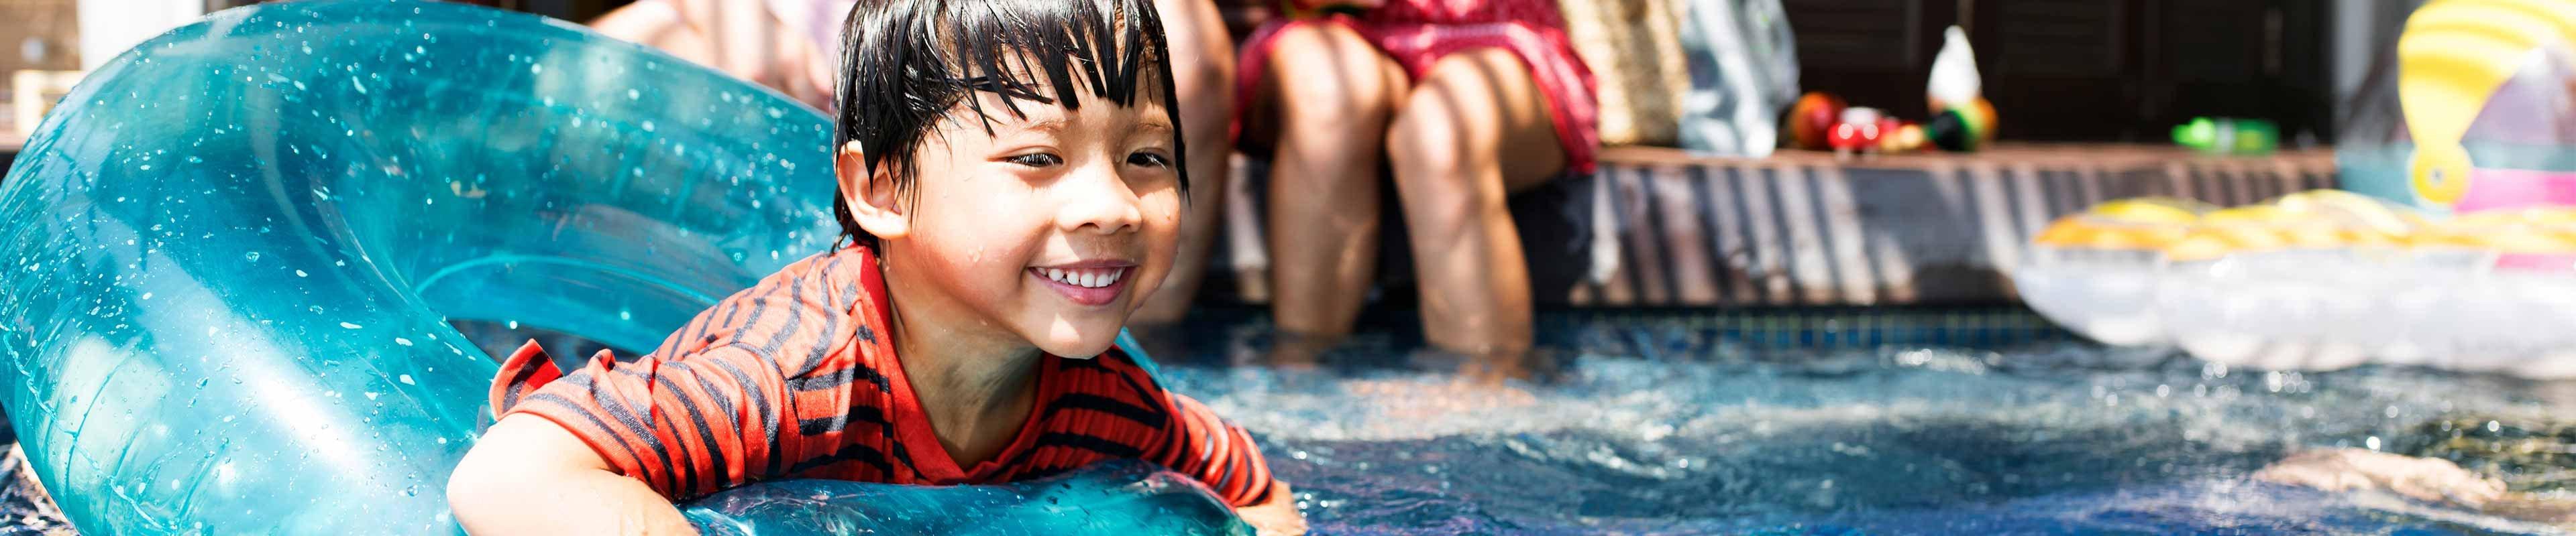
[[[837,242],[827,144],[822,113],[559,21],[224,10],[95,70],[0,180],[8,417],[82,533],[456,533],[497,366],[448,320],[654,348]],[[848,487],[1046,533],[1180,513]]]

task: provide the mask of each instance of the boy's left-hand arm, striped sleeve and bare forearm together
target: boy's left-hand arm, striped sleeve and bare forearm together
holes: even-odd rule
[[[786,397],[778,361],[742,345],[634,363],[603,353],[554,374],[528,343],[502,361],[492,389],[500,420],[448,477],[448,505],[479,533],[690,533],[672,497],[765,479],[793,461],[775,459],[768,441],[786,441],[778,423],[799,420]]]

